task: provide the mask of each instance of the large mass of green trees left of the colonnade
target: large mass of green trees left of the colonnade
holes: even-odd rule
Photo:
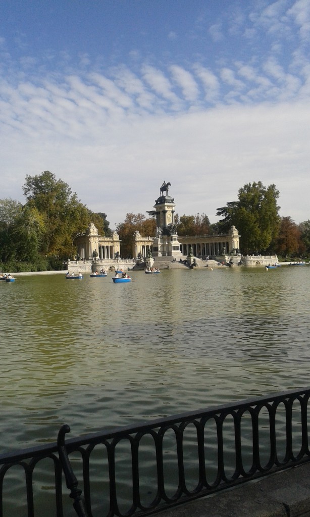
[[[76,253],[76,235],[94,222],[100,235],[111,230],[104,212],[94,213],[72,192],[68,184],[50,171],[26,176],[22,187],[25,205],[0,200],[0,260],[42,261],[56,266]],[[35,267],[35,266],[34,266]]]

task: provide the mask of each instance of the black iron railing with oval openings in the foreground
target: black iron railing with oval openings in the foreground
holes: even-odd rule
[[[37,498],[44,499],[35,482],[42,461],[51,471],[46,517],[66,515],[63,473],[80,517],[130,517],[302,464],[310,460],[309,398],[310,388],[291,390],[67,440],[65,425],[57,444],[0,456],[0,517],[5,480],[16,467],[25,483],[22,514],[34,516]],[[14,475],[6,484],[14,501]]]

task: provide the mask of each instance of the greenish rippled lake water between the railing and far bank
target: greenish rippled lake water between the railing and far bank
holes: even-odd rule
[[[2,449],[307,386],[310,267],[0,283]]]

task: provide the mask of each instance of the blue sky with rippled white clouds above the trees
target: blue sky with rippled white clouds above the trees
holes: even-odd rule
[[[0,0],[0,199],[51,171],[110,227],[280,191],[310,219],[309,0]]]

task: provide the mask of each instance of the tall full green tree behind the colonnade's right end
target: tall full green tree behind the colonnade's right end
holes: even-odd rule
[[[243,253],[265,251],[275,241],[280,224],[277,205],[279,191],[275,185],[265,187],[261,181],[244,185],[238,192],[239,201],[218,208],[219,221],[225,228],[235,225],[239,231],[240,248]]]

